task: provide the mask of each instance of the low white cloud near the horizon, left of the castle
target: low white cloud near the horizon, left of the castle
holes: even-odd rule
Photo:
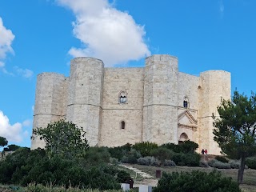
[[[10,125],[9,118],[0,110],[0,136],[8,142],[22,142],[22,123]]]

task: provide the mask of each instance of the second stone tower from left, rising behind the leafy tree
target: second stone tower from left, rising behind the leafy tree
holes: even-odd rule
[[[71,61],[66,120],[82,126],[90,146],[98,144],[101,130],[103,75],[104,64],[99,59]]]

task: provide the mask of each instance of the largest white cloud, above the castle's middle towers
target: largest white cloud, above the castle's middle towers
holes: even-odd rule
[[[144,41],[144,27],[107,0],[55,1],[76,16],[73,33],[83,47],[72,47],[69,51],[72,56],[95,57],[102,59],[106,66],[114,66],[150,55]]]

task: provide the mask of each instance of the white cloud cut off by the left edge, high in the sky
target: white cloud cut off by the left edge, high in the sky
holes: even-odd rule
[[[15,36],[11,32],[11,30],[7,30],[5,26],[3,26],[2,18],[0,17],[0,59],[6,58],[6,54],[8,52],[14,54],[14,50],[11,47],[11,43],[13,42]]]

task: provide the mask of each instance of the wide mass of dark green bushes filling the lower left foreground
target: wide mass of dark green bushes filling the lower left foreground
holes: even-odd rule
[[[93,152],[95,154],[92,154]],[[65,159],[54,155],[48,158],[45,150],[30,151],[21,148],[8,155],[0,164],[0,182],[22,186],[34,182],[42,185],[54,183],[54,186],[80,186],[99,190],[120,189],[118,182],[123,181],[124,175],[128,177],[129,174],[106,163],[97,166],[91,163],[94,160],[102,162],[96,157],[108,159],[106,149],[93,148],[90,154],[93,155],[90,161],[89,157]]]

